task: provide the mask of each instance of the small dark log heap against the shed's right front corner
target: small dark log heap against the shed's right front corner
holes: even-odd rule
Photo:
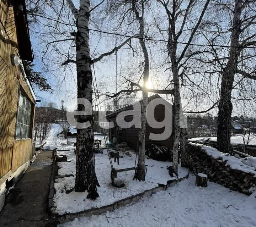
[[[145,154],[150,158],[158,161],[172,161],[172,151],[165,146],[151,144]]]

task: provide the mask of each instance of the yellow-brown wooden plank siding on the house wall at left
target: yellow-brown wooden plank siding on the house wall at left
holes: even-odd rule
[[[15,171],[32,157],[32,140],[15,141],[19,89],[34,104],[32,94],[23,80],[20,66],[12,66],[11,54],[18,55],[14,10],[0,0],[0,178]],[[33,109],[34,110],[34,109]],[[34,118],[32,111],[32,120]],[[33,126],[33,121],[32,121]],[[31,127],[32,128],[32,127]]]

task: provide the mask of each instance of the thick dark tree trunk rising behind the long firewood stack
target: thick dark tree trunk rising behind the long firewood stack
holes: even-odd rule
[[[223,153],[231,153],[230,128],[233,105],[231,94],[239,56],[239,35],[241,33],[242,0],[235,0],[229,59],[222,74],[218,112],[217,146]]]

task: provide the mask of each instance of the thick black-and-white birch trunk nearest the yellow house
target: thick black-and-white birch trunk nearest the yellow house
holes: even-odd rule
[[[92,104],[92,71],[89,48],[89,19],[90,1],[80,0],[79,15],[77,10],[72,8],[76,23],[76,72],[78,83],[78,98],[84,98]],[[74,6],[74,5],[73,5]],[[85,110],[85,106],[78,105],[78,110]],[[88,191],[87,198],[96,199],[97,186],[100,187],[95,173],[95,152],[94,152],[94,120],[92,116],[79,116],[78,122],[90,121],[91,127],[77,130],[76,143],[76,178],[75,191]]]

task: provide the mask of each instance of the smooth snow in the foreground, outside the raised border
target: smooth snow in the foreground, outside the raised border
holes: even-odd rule
[[[247,196],[212,182],[206,188],[196,187],[194,182],[195,177],[190,176],[138,203],[98,216],[78,217],[58,227],[256,226],[256,195]]]

